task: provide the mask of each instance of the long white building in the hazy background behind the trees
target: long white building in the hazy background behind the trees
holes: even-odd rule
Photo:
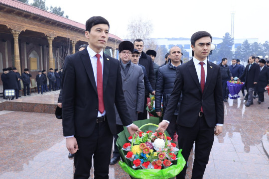
[[[216,48],[220,47],[220,43],[222,43],[223,38],[213,37],[212,44],[215,45]],[[189,57],[192,57],[192,49],[191,49],[191,43],[190,38],[152,38],[151,40],[155,41],[155,43],[159,46],[165,46],[167,50],[169,50],[174,45],[177,45],[179,47],[183,47],[184,50],[189,52]],[[250,38],[250,39],[234,39],[234,45],[232,47],[233,53],[235,53],[236,48],[238,46],[241,46],[245,40],[248,40],[249,44],[253,44],[254,42],[258,42],[258,38]],[[214,51],[213,51],[214,53]]]

